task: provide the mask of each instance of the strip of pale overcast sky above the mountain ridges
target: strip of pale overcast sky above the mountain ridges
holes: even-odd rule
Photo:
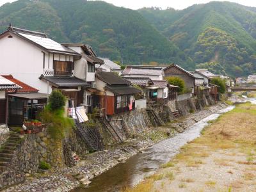
[[[0,6],[4,3],[13,2],[16,0],[0,0]],[[70,0],[72,1],[72,0]],[[255,6],[255,0],[230,0],[235,3],[243,4],[246,6]],[[116,6],[124,6],[125,8],[139,9],[143,7],[157,6],[163,9],[172,7],[177,10],[182,10],[193,4],[208,3],[209,0],[106,0],[108,3],[115,4]]]

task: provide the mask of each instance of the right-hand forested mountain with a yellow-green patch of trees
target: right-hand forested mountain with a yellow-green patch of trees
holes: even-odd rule
[[[255,8],[211,2],[185,10],[143,8],[139,12],[196,67],[234,76],[256,72]]]

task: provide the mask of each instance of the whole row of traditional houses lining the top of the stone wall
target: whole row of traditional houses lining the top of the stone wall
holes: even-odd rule
[[[99,58],[90,45],[60,44],[44,33],[9,26],[0,35],[0,124],[22,125],[36,119],[52,90],[67,96],[67,114],[78,108],[111,116],[147,104],[177,99],[177,86],[166,77],[184,79],[192,95],[202,90],[216,98],[214,74],[169,67],[120,66]],[[136,102],[137,101],[137,102]],[[82,112],[81,112],[82,113]],[[83,116],[86,114],[83,114]]]

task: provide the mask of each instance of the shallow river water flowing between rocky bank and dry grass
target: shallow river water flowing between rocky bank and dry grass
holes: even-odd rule
[[[186,131],[152,145],[143,153],[137,154],[125,163],[118,164],[95,177],[88,188],[75,189],[74,192],[120,191],[120,189],[138,184],[145,176],[155,173],[161,164],[170,161],[175,154],[179,153],[180,147],[200,136],[200,131],[208,125],[207,122],[215,120],[221,113],[226,113],[234,108],[234,106],[228,106],[218,113],[207,116]]]

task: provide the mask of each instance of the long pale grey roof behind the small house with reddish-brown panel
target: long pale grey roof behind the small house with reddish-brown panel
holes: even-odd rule
[[[122,72],[123,75],[150,75],[162,76],[163,68],[150,66],[127,66]]]

